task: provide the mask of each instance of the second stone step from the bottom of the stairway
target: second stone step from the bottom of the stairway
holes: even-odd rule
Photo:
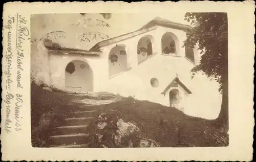
[[[76,125],[76,126],[63,126],[57,127],[54,134],[77,134],[86,133],[88,125]]]

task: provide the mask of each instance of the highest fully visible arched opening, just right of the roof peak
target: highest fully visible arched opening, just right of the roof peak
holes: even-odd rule
[[[161,43],[162,54],[179,55],[179,40],[175,34],[171,32],[164,33],[161,39]]]

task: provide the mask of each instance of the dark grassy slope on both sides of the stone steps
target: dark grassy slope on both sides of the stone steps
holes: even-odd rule
[[[49,147],[49,136],[61,125],[74,105],[73,96],[47,91],[31,84],[31,129],[34,147]],[[98,110],[113,119],[122,118],[138,126],[143,136],[160,143],[161,147],[227,146],[227,135],[211,126],[210,120],[190,117],[160,104],[125,98]],[[93,127],[93,124],[90,128]],[[92,131],[93,133],[93,131]]]

